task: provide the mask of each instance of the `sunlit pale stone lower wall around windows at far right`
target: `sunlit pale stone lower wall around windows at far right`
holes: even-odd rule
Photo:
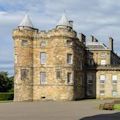
[[[105,83],[100,84],[100,75],[105,75]],[[117,75],[116,83],[112,82],[112,76]],[[100,70],[96,74],[96,95],[97,98],[120,98],[120,71]],[[104,90],[104,95],[100,95],[100,90]],[[116,91],[116,95],[113,95]]]

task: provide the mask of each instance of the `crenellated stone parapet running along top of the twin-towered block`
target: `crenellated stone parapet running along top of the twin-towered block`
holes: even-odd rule
[[[19,28],[13,30],[13,39],[14,38],[27,38],[27,39],[34,39],[34,38],[50,38],[50,37],[70,37],[76,38],[77,33],[74,30],[70,29],[52,29],[49,31],[40,31],[38,29],[26,29],[26,28]]]

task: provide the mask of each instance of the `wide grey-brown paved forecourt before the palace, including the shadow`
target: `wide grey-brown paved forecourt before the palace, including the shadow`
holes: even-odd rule
[[[100,100],[0,103],[0,120],[120,120],[117,111],[98,110]]]

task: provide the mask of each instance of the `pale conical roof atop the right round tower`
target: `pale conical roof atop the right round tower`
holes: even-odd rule
[[[61,19],[59,20],[57,26],[69,26],[71,27],[65,13],[62,15]]]

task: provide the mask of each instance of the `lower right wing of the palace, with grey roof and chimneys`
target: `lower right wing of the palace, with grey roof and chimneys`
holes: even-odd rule
[[[92,36],[86,49],[88,98],[120,98],[120,57],[113,51],[113,39],[109,41],[110,45],[106,47]]]

